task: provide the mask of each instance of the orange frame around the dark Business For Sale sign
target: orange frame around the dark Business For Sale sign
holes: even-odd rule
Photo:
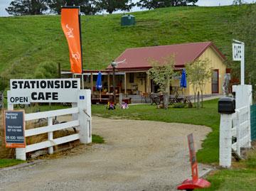
[[[6,142],[6,112],[22,112],[22,116],[23,116],[23,143],[7,143]],[[25,131],[26,131],[26,123],[25,123],[25,110],[24,109],[19,109],[19,110],[4,110],[3,111],[3,122],[4,122],[4,143],[6,148],[26,148],[26,136],[25,136]]]

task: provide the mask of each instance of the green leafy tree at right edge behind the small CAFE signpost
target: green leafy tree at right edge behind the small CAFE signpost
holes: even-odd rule
[[[238,10],[240,18],[233,28],[233,38],[245,43],[245,83],[252,84],[254,97],[256,96],[256,4],[247,4]],[[237,72],[239,77],[240,64],[230,65],[232,71]]]

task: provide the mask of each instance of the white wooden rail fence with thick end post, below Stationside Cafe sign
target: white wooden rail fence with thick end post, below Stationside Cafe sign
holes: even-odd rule
[[[81,97],[80,99],[79,97]],[[9,105],[9,109],[13,109],[13,105]],[[53,124],[55,116],[63,116],[72,114],[72,121],[63,124]],[[26,160],[26,153],[37,151],[43,148],[48,148],[48,153],[53,153],[53,146],[62,143],[68,143],[80,139],[81,143],[92,142],[92,121],[91,121],[91,102],[90,90],[82,89],[78,92],[78,102],[73,103],[70,109],[59,109],[54,111],[37,112],[33,114],[25,114],[25,121],[37,120],[46,118],[48,121],[47,126],[38,127],[34,129],[25,129],[25,137],[37,136],[42,133],[48,133],[48,140],[41,143],[34,143],[27,145],[26,148],[16,148],[16,159]],[[53,132],[77,127],[79,133],[70,136],[63,136],[61,138],[53,139]]]

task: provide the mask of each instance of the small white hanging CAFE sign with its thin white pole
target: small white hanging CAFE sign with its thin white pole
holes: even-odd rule
[[[233,61],[241,62],[241,85],[245,84],[245,43],[233,40]]]

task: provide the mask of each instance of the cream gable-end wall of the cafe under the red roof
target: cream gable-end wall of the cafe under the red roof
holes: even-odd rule
[[[222,58],[218,55],[218,53],[215,53],[215,50],[213,48],[209,47],[206,49],[206,51],[201,55],[198,60],[205,60],[208,58],[208,60],[211,61],[210,67],[213,70],[218,70],[219,72],[219,84],[218,84],[218,92],[219,94],[222,93],[222,85],[223,85],[223,80],[225,76],[225,71],[226,71],[226,65],[224,64]],[[198,89],[199,91],[199,89]],[[193,87],[192,85],[189,85],[189,94],[193,95]],[[212,94],[212,80],[211,78],[208,80],[208,83],[206,84],[206,88],[203,91],[203,94]]]

